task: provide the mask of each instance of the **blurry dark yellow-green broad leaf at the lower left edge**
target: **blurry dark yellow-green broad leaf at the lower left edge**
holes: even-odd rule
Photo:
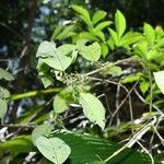
[[[1,142],[0,151],[28,153],[35,151],[35,149],[31,141],[31,136],[19,136],[14,139]]]

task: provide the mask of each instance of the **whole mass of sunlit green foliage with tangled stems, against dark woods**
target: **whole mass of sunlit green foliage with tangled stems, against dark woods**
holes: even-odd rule
[[[27,132],[35,127],[32,131],[34,145],[32,145],[30,136],[19,136],[3,141],[0,149],[7,153],[14,153],[15,156],[20,153],[15,150],[15,145],[23,152],[35,150],[56,164],[65,162],[103,164],[120,163],[120,161],[127,164],[134,162],[160,163],[160,160],[155,160],[144,148],[142,139],[143,136],[151,133],[152,142],[156,134],[160,144],[164,144],[164,139],[156,130],[163,119],[161,106],[156,107],[156,103],[163,105],[161,97],[162,93],[164,94],[163,28],[160,26],[154,28],[144,23],[143,32],[133,32],[127,28],[126,17],[119,10],[116,11],[113,21],[106,21],[107,13],[105,11],[97,10],[91,14],[79,5],[71,5],[71,9],[82,22],[58,26],[52,33],[51,40],[40,43],[36,52],[38,75],[45,89],[58,86],[57,84],[62,86],[50,99],[54,109],[50,108],[39,116],[36,114],[40,112],[38,108],[33,114],[26,113],[25,118],[20,118],[20,124],[24,120],[28,120],[25,121],[26,124],[34,124],[34,126],[23,126],[24,129],[27,128]],[[79,25],[79,23],[81,24]],[[83,24],[84,28],[82,28]],[[74,65],[82,69],[73,71]],[[126,74],[126,68],[133,68],[134,71]],[[13,80],[10,73],[3,69],[0,71],[0,79]],[[102,95],[99,95],[101,87],[98,89],[98,86],[105,85],[105,90],[107,90],[108,84],[120,87],[127,94],[125,99],[119,103],[117,94],[120,93],[116,93],[114,112],[107,110],[109,101],[102,101]],[[139,84],[140,91],[138,89],[136,91],[137,84]],[[131,85],[132,87],[129,90]],[[116,92],[119,92],[118,89]],[[148,105],[145,110],[148,114],[143,112],[139,120],[134,120],[132,114],[131,92],[133,91],[144,105]],[[3,117],[7,112],[5,99],[10,95],[3,87],[0,87],[0,116]],[[154,95],[156,98],[153,98]],[[117,125],[113,121],[125,102],[128,102],[130,113],[130,120],[124,127],[126,132],[119,121]],[[49,102],[46,103],[49,104]],[[46,103],[43,108],[47,107]],[[90,126],[80,130],[78,127],[71,129],[80,134],[68,130],[61,132],[66,129],[65,119],[70,117],[69,114],[74,110],[82,110],[90,120]],[[34,116],[34,113],[37,117]],[[115,129],[114,134],[110,132],[113,128]],[[86,136],[84,132],[92,134]],[[119,145],[104,139],[116,138],[118,133],[122,134],[120,140],[128,140],[126,144]],[[139,144],[144,152],[139,153],[132,150],[134,144]]]

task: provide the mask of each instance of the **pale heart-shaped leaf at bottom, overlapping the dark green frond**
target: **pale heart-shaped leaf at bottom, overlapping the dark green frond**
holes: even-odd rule
[[[35,143],[40,153],[55,164],[62,164],[71,152],[70,147],[59,138],[47,139],[40,136]]]

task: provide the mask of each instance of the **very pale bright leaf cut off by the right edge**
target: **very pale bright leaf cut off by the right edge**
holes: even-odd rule
[[[153,74],[159,89],[164,94],[164,71],[154,72]]]

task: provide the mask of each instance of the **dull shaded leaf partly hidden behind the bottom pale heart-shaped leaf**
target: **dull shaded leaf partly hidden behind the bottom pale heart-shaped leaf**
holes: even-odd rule
[[[32,131],[33,143],[35,144],[36,139],[38,139],[40,136],[48,137],[52,129],[54,129],[54,125],[51,125],[49,122],[35,127],[35,129]]]

